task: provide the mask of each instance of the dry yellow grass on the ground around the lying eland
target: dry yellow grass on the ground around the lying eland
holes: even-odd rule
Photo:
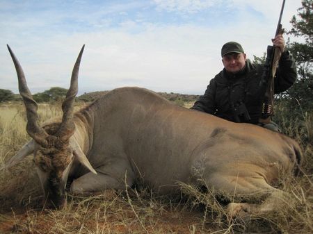
[[[190,106],[190,105],[189,105]],[[77,107],[79,108],[79,107]],[[44,122],[61,115],[61,108],[41,105]],[[0,106],[0,167],[29,140],[24,106]],[[300,134],[299,134],[300,135]],[[312,162],[312,146],[303,147]],[[67,196],[62,210],[42,210],[42,193],[29,156],[9,171],[0,172],[0,233],[238,233],[240,222],[225,219],[224,207],[213,192],[182,185],[182,197],[156,197],[149,191],[107,191],[90,197]],[[312,165],[305,165],[305,173]],[[282,176],[289,194],[285,206],[270,217],[252,217],[272,233],[313,232],[312,175]],[[292,202],[291,202],[292,201]],[[248,232],[246,232],[248,233]]]

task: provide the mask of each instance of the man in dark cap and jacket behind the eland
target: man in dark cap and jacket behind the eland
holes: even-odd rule
[[[274,92],[287,90],[296,81],[294,58],[285,49],[284,37],[277,35],[273,44],[282,51],[275,74]],[[191,109],[207,112],[232,122],[259,124],[262,108],[263,65],[252,65],[247,60],[241,44],[227,42],[221,50],[224,69],[207,86],[204,95]],[[279,131],[277,124],[259,124],[273,131]]]

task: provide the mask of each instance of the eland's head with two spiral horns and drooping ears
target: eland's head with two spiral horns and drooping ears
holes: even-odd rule
[[[13,59],[19,83],[19,93],[21,94],[26,107],[27,125],[26,131],[32,140],[24,145],[13,158],[3,167],[8,168],[17,164],[23,158],[33,153],[42,190],[45,196],[45,206],[51,208],[62,208],[66,204],[65,186],[67,176],[74,159],[97,174],[90,165],[79,144],[72,135],[75,131],[73,121],[74,99],[78,92],[78,73],[81,56],[84,46],[81,48],[77,61],[72,72],[70,89],[67,91],[65,101],[62,103],[63,117],[61,123],[40,126],[38,117],[38,105],[33,100],[31,92],[26,84],[26,79],[19,61],[8,46]]]

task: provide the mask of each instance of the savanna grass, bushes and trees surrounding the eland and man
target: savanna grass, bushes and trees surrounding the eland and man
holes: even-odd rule
[[[288,33],[304,43],[288,42],[298,64],[298,81],[275,100],[275,122],[300,143],[303,165],[300,176],[281,175],[280,187],[289,200],[268,217],[251,217],[250,224],[267,233],[313,233],[313,1],[303,0]],[[26,114],[18,97],[0,90],[0,167],[27,142]],[[49,91],[49,92],[48,92]],[[40,121],[60,117],[66,90],[58,87],[38,94]],[[77,98],[76,110],[102,92]],[[196,96],[162,94],[179,106],[191,105]],[[8,103],[10,101],[10,103]],[[42,102],[42,103],[41,103]],[[49,103],[49,104],[48,104]],[[42,209],[42,192],[31,156],[10,170],[0,172],[0,233],[241,233],[239,220],[225,219],[223,203],[214,192],[182,184],[178,197],[157,197],[138,184],[126,191],[93,196],[67,194],[62,210]],[[267,229],[266,229],[267,228]],[[249,230],[245,231],[250,233]]]

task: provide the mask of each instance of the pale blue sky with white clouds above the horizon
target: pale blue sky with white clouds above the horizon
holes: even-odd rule
[[[0,0],[0,89],[18,92],[6,44],[33,94],[70,85],[86,45],[79,94],[138,86],[203,94],[223,63],[220,48],[239,42],[263,56],[275,35],[280,0]],[[301,0],[287,0],[282,26]],[[285,35],[285,39],[290,37]],[[292,38],[291,41],[298,40]]]

